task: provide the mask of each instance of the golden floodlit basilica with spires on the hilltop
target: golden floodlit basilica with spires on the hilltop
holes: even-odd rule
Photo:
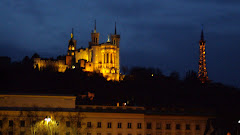
[[[68,44],[65,59],[34,59],[34,68],[42,70],[48,66],[54,67],[58,72],[65,72],[67,68],[80,68],[85,72],[101,73],[107,80],[119,81],[119,41],[116,23],[115,32],[106,43],[99,44],[100,33],[96,30],[91,33],[91,42],[87,48],[77,49],[77,41],[74,39],[73,31]]]

